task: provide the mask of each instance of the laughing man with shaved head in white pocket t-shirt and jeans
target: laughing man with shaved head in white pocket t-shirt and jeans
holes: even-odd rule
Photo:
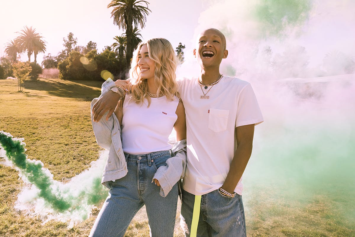
[[[224,35],[209,28],[196,43],[193,54],[200,75],[180,86],[187,126],[182,227],[186,236],[246,236],[241,177],[251,155],[254,126],[263,117],[250,84],[219,72],[228,56]],[[104,99],[102,104],[109,104]],[[97,119],[114,104],[98,104]],[[193,212],[194,207],[200,212]]]

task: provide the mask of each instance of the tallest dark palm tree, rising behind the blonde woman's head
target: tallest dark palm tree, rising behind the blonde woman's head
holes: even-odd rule
[[[141,4],[146,4],[143,6]],[[147,20],[147,15],[151,10],[148,9],[149,2],[144,0],[112,0],[107,6],[113,7],[111,11],[111,17],[113,17],[113,23],[118,25],[120,29],[126,30],[127,46],[126,46],[126,60],[127,64],[130,64],[133,47],[132,47],[132,33],[133,25],[138,25],[143,28]]]

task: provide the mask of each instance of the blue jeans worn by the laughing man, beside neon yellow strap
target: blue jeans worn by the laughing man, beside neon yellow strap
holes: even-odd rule
[[[182,189],[181,227],[190,236],[195,195]],[[201,196],[198,237],[246,237],[242,196],[223,196],[218,189]]]

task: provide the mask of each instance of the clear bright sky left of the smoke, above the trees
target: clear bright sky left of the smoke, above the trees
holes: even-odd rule
[[[174,48],[190,44],[198,17],[206,0],[148,0],[152,12],[147,17],[146,27],[141,29],[144,39],[163,37]],[[0,56],[4,55],[5,44],[14,39],[15,32],[24,26],[33,26],[47,41],[47,52],[56,55],[63,47],[63,37],[72,32],[78,39],[77,45],[89,41],[97,43],[100,51],[111,45],[114,36],[124,31],[113,24],[109,0],[0,0]],[[186,7],[189,6],[189,7]],[[43,54],[37,56],[42,61]],[[22,54],[27,60],[27,54]],[[33,56],[31,58],[33,61]]]

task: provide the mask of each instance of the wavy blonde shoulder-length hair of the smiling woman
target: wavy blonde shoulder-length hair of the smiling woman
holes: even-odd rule
[[[138,54],[143,44],[147,44],[148,55],[154,61],[154,82],[158,86],[157,95],[164,93],[166,99],[173,101],[175,96],[179,98],[178,83],[176,82],[177,58],[173,46],[164,38],[148,39],[141,42],[133,53],[130,80],[131,93],[133,100],[139,104],[143,103],[144,98],[148,100],[148,107],[151,104],[151,97],[147,95],[147,80],[141,78],[141,70],[138,66]]]

